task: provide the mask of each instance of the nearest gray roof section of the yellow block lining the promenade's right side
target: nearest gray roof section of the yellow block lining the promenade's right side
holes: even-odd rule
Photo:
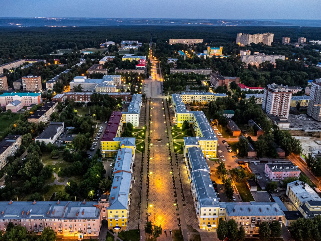
[[[220,206],[208,172],[197,170],[192,172],[200,208]]]

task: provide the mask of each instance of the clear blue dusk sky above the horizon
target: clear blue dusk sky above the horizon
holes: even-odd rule
[[[0,17],[321,19],[321,0],[0,0]]]

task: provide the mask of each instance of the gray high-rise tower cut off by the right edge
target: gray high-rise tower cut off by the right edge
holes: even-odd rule
[[[307,115],[321,121],[321,79],[312,82]]]

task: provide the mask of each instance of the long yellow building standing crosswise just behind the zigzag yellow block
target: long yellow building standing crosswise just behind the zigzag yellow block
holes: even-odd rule
[[[189,104],[193,101],[198,103],[209,103],[220,97],[227,97],[226,94],[217,94],[211,92],[182,92],[180,97],[184,104]]]

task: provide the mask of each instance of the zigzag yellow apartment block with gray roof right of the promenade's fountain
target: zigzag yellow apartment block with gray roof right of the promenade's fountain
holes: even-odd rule
[[[184,137],[184,156],[186,156],[187,148],[196,146],[202,149],[206,158],[216,157],[218,139],[204,112],[187,111],[181,96],[178,94],[172,94],[172,102],[177,127],[181,127],[184,121],[188,121],[193,124],[196,134],[196,137]]]

